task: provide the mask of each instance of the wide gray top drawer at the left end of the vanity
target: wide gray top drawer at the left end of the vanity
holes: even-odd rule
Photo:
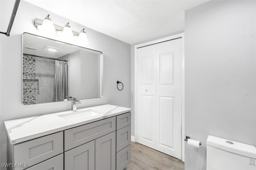
[[[63,132],[14,145],[14,163],[35,165],[63,152]],[[15,168],[15,170],[24,168]]]

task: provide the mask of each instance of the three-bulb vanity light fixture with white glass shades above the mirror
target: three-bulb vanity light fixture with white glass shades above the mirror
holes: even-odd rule
[[[87,35],[84,29],[82,29],[80,33],[73,31],[69,25],[69,22],[66,23],[64,27],[55,25],[54,23],[52,23],[52,20],[49,18],[49,16],[50,15],[47,15],[44,20],[35,20],[34,26],[36,27],[36,29],[38,29],[39,31],[44,31],[45,33],[48,33],[50,35],[59,35],[64,39],[78,41],[78,43],[82,45],[88,44]]]

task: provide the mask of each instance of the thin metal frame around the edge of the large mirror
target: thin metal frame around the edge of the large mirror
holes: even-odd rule
[[[36,35],[36,34],[33,34],[33,33],[28,33],[28,32],[24,32],[24,33],[34,35],[34,36],[38,36],[38,37],[42,37],[41,35]],[[30,104],[30,105],[23,104],[23,41],[24,41],[23,35],[24,35],[24,33],[22,33],[22,42],[21,42],[21,44],[22,44],[22,48],[21,48],[21,57],[22,57],[21,58],[21,64],[22,64],[22,66],[21,66],[21,69],[22,69],[21,70],[21,103],[22,103],[23,106],[34,106],[34,105],[38,105],[38,104]],[[102,74],[102,77],[101,77],[102,87],[101,87],[101,91],[102,91],[102,93],[101,93],[100,97],[96,97],[96,98],[103,98],[103,89],[104,89],[104,86],[103,86],[103,69],[104,69],[103,61],[104,60],[103,59],[104,59],[104,57],[103,57],[103,53],[101,51],[94,50],[94,49],[89,49],[89,48],[86,48],[86,47],[66,43],[66,42],[63,42],[63,41],[59,41],[59,40],[51,39],[51,38],[47,38],[47,37],[42,37],[42,38],[50,39],[50,40],[53,40],[53,41],[58,41],[60,43],[65,43],[65,44],[68,44],[68,45],[73,45],[73,46],[76,46],[76,47],[80,47],[80,48],[84,48],[84,49],[88,49],[88,50],[92,50],[92,51],[97,51],[97,52],[101,53],[101,56],[102,56],[102,66],[101,66],[102,67],[102,73],[101,73]],[[88,98],[88,99],[96,99],[96,98]],[[86,99],[79,99],[79,100],[86,100]],[[60,101],[60,102],[70,102],[70,101]],[[48,102],[48,103],[40,103],[40,104],[53,104],[53,103],[59,103],[59,102]]]

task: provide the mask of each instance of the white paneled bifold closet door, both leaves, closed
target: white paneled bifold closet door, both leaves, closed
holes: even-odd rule
[[[181,159],[182,40],[137,49],[137,141]]]

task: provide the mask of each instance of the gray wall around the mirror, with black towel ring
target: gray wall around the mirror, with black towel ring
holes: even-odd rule
[[[10,4],[9,1],[1,1],[1,31],[6,31],[9,18],[5,18],[5,14],[10,13],[13,8],[13,4],[8,4]],[[29,32],[42,35],[36,30],[33,23],[37,18],[44,19],[47,14],[50,14],[50,18],[57,25],[64,25],[69,21],[66,18],[22,1],[14,20],[11,36],[0,35],[1,163],[6,162],[7,157],[7,136],[4,130],[4,120],[71,109],[70,101],[31,106],[22,105],[22,33]],[[84,27],[73,21],[70,21],[70,25],[75,31],[80,31]],[[86,28],[86,34],[89,41],[89,45],[86,47],[102,51],[104,54],[104,90],[102,98],[81,100],[82,104],[79,104],[78,108],[100,104],[130,107],[130,45],[89,28]],[[117,80],[124,83],[124,90],[121,92],[116,89]]]

